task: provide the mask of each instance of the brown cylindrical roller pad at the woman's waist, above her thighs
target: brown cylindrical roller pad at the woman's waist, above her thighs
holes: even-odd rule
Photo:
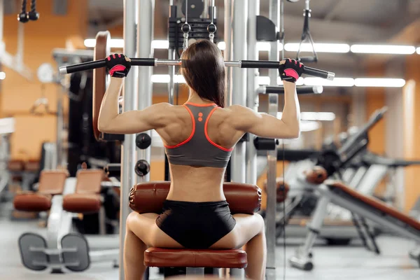
[[[130,208],[137,213],[162,213],[169,181],[139,183],[130,190]],[[223,193],[232,214],[253,214],[261,207],[261,190],[245,183],[223,183]]]

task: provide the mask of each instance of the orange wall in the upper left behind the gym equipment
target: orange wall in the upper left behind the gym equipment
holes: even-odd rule
[[[36,69],[48,62],[56,67],[52,59],[52,49],[64,48],[66,43],[80,46],[87,31],[87,1],[68,1],[66,15],[52,14],[52,0],[38,1],[37,9],[40,18],[28,22],[25,28],[23,62],[34,74],[27,80],[6,67],[6,79],[1,85],[1,117],[13,116],[16,120],[16,132],[11,137],[11,156],[13,159],[38,159],[43,141],[55,141],[55,116],[31,116],[32,104],[41,97],[41,83],[36,78]],[[12,55],[17,52],[18,25],[16,15],[4,18],[4,42],[6,51]],[[46,85],[45,97],[50,109],[56,111],[57,85]]]

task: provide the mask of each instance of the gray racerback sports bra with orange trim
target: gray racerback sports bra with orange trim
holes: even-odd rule
[[[216,104],[183,104],[193,121],[193,131],[185,141],[167,146],[166,154],[171,165],[201,167],[226,167],[233,148],[223,148],[211,141],[207,125],[211,115],[219,107]]]

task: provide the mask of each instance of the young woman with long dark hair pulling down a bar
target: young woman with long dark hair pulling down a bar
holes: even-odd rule
[[[118,97],[130,59],[111,55],[111,83],[99,113],[99,130],[133,134],[156,130],[165,144],[171,188],[163,213],[127,218],[124,269],[126,279],[141,279],[148,246],[165,248],[241,248],[248,254],[246,274],[264,279],[265,225],[258,214],[230,214],[223,179],[232,149],[246,132],[259,137],[290,139],[300,134],[300,108],[295,82],[303,65],[286,59],[279,67],[285,89],[281,120],[244,106],[225,108],[225,66],[210,41],[190,45],[181,57],[181,73],[190,96],[186,104],[160,103],[118,114]]]

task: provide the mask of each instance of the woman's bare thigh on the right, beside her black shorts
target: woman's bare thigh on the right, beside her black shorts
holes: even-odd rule
[[[241,248],[255,235],[264,231],[264,219],[260,214],[235,214],[235,228],[228,235],[225,235],[210,248],[230,249]]]

